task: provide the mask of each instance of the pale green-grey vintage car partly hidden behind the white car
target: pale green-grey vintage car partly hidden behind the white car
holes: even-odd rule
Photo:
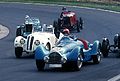
[[[27,35],[31,34],[34,31],[34,28],[40,26],[40,20],[38,18],[29,17],[26,15],[24,24],[17,26],[16,37],[23,36],[26,38]]]

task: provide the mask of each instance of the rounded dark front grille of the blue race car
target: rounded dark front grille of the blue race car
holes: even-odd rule
[[[53,52],[49,55],[49,63],[52,63],[52,64],[59,64],[61,63],[61,55],[57,52]]]

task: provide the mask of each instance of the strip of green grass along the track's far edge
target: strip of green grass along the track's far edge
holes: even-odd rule
[[[71,5],[81,7],[100,8],[106,10],[113,10],[120,12],[119,3],[104,3],[104,2],[89,2],[89,1],[67,1],[67,0],[0,0],[1,2],[24,2],[24,3],[44,3],[44,4],[58,4]]]

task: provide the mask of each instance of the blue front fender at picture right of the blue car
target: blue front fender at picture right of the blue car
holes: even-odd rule
[[[67,60],[68,61],[76,61],[78,58],[78,55],[80,54],[81,47],[77,46],[75,47],[69,54],[67,54]]]

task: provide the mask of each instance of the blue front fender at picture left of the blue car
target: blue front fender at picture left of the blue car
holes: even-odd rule
[[[44,60],[44,57],[49,54],[49,51],[45,49],[45,47],[41,44],[35,50],[35,59],[36,60]]]

